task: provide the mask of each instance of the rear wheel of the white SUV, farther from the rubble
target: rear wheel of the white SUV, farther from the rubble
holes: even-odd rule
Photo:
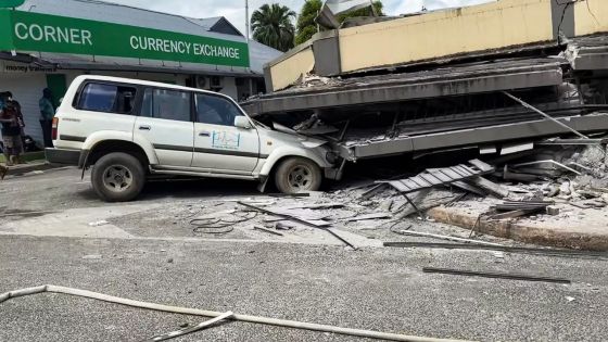
[[[106,202],[135,200],[145,183],[145,172],[139,160],[128,153],[114,152],[100,157],[93,166],[91,182]]]

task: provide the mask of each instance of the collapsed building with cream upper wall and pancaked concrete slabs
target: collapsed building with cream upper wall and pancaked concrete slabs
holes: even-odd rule
[[[245,111],[344,162],[608,130],[608,2],[498,0],[355,18],[265,66]]]

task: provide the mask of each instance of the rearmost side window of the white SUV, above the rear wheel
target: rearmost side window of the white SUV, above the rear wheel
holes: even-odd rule
[[[131,114],[137,89],[117,85],[90,83],[79,97],[78,109],[93,112]]]

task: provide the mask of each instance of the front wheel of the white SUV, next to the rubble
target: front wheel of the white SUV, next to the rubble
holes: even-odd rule
[[[317,191],[321,187],[320,167],[303,157],[290,157],[281,162],[275,173],[275,185],[282,193]]]

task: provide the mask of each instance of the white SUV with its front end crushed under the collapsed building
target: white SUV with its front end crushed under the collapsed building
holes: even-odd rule
[[[134,200],[149,175],[263,186],[274,176],[279,191],[295,193],[340,174],[325,141],[273,130],[229,97],[161,83],[79,76],[58,109],[52,136],[47,160],[93,166],[93,189],[111,202]]]

